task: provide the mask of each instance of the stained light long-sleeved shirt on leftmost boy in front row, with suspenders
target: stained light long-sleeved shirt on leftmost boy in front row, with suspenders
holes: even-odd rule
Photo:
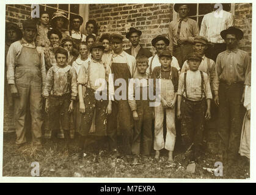
[[[68,74],[70,74],[71,83],[68,83]],[[70,85],[70,87],[68,87],[68,85]],[[71,99],[76,99],[76,96],[78,95],[75,68],[70,65],[65,66],[65,68],[52,66],[47,73],[43,97],[48,98],[49,94],[63,96],[67,93],[71,93]]]

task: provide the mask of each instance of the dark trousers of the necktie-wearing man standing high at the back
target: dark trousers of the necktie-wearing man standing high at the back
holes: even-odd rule
[[[192,44],[184,44],[183,46],[174,46],[174,57],[178,60],[180,68],[183,63],[187,60],[186,56],[192,52]]]

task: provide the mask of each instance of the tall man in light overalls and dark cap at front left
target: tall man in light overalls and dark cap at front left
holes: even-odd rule
[[[42,88],[45,85],[46,71],[42,48],[36,47],[36,22],[23,21],[23,38],[10,45],[7,54],[7,80],[15,96],[16,144],[26,143],[27,107],[31,112],[32,143],[41,145]]]

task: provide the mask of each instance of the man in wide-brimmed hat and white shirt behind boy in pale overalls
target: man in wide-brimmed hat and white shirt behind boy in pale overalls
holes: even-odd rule
[[[152,74],[155,67],[161,66],[161,63],[159,61],[159,54],[166,50],[167,46],[169,46],[169,43],[170,41],[163,35],[158,35],[157,37],[153,38],[152,45],[156,48],[156,54],[148,59],[147,73],[149,75]],[[177,68],[177,70],[180,71],[178,60],[174,56],[172,56],[171,66]]]

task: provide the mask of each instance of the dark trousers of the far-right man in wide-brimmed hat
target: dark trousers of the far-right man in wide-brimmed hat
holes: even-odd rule
[[[246,109],[241,103],[243,83],[219,85],[219,137],[220,152],[235,158],[240,146],[243,116]]]

